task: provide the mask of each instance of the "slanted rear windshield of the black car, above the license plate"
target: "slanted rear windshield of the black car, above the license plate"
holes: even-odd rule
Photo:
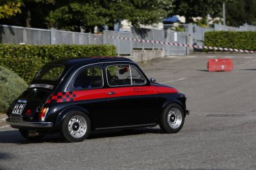
[[[45,65],[36,75],[36,80],[57,81],[63,73],[63,65]]]

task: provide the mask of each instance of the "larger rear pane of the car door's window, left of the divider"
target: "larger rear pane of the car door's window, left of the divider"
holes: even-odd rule
[[[106,67],[106,77],[110,86],[131,85],[129,65],[111,65]]]

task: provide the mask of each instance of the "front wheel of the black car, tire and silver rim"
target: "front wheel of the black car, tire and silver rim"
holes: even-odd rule
[[[177,103],[170,103],[164,108],[161,116],[159,126],[162,131],[170,134],[177,133],[183,127],[185,120],[183,108]]]

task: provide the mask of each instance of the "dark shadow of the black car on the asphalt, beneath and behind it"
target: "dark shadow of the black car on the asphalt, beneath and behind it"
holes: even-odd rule
[[[86,140],[95,138],[112,138],[119,136],[129,136],[137,134],[161,134],[163,133],[160,128],[137,128],[132,130],[100,130],[91,132],[90,136]],[[61,135],[58,134],[48,134],[44,136],[41,140],[31,141],[22,137],[18,130],[7,130],[0,131],[0,143],[14,143],[14,144],[29,144],[29,143],[43,143],[43,142],[53,142],[62,143],[65,141]]]

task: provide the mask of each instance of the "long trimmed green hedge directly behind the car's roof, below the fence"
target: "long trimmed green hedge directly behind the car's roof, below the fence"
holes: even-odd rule
[[[42,65],[67,57],[115,56],[110,45],[22,45],[0,44],[0,65],[22,77],[27,83]]]

